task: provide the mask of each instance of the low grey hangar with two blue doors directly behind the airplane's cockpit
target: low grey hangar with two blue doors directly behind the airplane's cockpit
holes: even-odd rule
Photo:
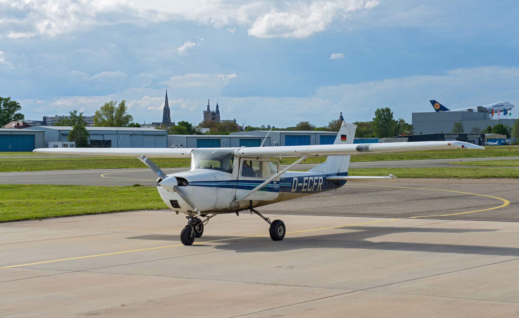
[[[183,145],[184,148],[213,147],[260,147],[264,136],[254,135],[168,135],[168,147]],[[264,146],[270,145],[270,136]]]

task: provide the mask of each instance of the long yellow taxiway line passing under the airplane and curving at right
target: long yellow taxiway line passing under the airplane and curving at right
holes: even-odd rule
[[[116,172],[111,172],[116,173]],[[108,174],[108,173],[105,173]],[[101,175],[103,176],[103,175]],[[448,215],[457,215],[457,214],[466,214],[466,213],[473,213],[473,212],[480,212],[480,211],[487,211],[487,210],[494,210],[502,208],[503,206],[507,206],[510,204],[510,201],[498,197],[493,196],[486,196],[486,195],[479,195],[477,193],[469,193],[469,192],[461,192],[461,191],[452,191],[452,190],[439,190],[439,189],[425,189],[425,188],[413,188],[413,187],[398,187],[398,186],[382,186],[382,185],[364,185],[364,186],[372,186],[372,187],[393,187],[393,188],[406,188],[406,189],[419,189],[419,190],[435,190],[435,191],[447,191],[447,192],[457,192],[457,193],[464,193],[467,195],[474,195],[474,196],[482,196],[482,197],[489,197],[494,199],[502,200],[504,203],[496,206],[494,208],[489,209],[483,209],[483,210],[476,210],[476,211],[469,211],[469,212],[461,212],[461,213],[453,213],[453,214],[441,214],[441,215],[423,215],[423,216],[412,216],[410,218],[417,218],[417,217],[434,217],[434,216],[448,216]],[[366,222],[366,223],[357,223],[357,224],[348,224],[348,225],[339,225],[339,226],[331,226],[331,227],[323,227],[318,229],[310,229],[310,230],[301,230],[301,231],[293,231],[293,232],[286,232],[286,234],[289,233],[301,233],[301,232],[309,232],[309,231],[318,231],[318,230],[326,230],[326,229],[333,229],[333,228],[340,228],[340,227],[346,227],[346,226],[355,226],[355,225],[363,225],[363,224],[372,224],[372,223],[380,223],[380,222],[388,222],[388,221],[394,221],[399,220],[401,218],[392,218],[387,220],[379,220],[379,221],[373,221],[373,222]],[[264,234],[264,235],[255,235],[255,236],[248,236],[248,237],[239,237],[239,238],[230,238],[230,239],[220,239],[220,240],[211,240],[211,241],[203,241],[203,242],[195,242],[193,244],[203,244],[203,243],[212,243],[212,242],[222,242],[222,241],[229,241],[229,240],[237,240],[237,239],[248,239],[248,238],[258,238],[258,237],[265,237],[269,236],[270,234]],[[37,264],[45,264],[45,263],[51,263],[56,261],[63,261],[63,260],[72,260],[72,259],[80,259],[80,258],[89,258],[89,257],[98,257],[98,256],[106,256],[106,255],[115,255],[115,254],[123,254],[123,253],[131,253],[131,252],[140,252],[140,251],[148,251],[148,250],[157,250],[158,248],[167,248],[167,247],[175,247],[175,246],[183,246],[184,244],[176,244],[176,245],[167,245],[167,246],[158,246],[158,247],[149,247],[149,248],[141,248],[139,250],[130,250],[130,251],[122,251],[122,252],[113,252],[113,253],[105,253],[105,254],[97,254],[97,255],[88,255],[88,256],[79,256],[79,257],[71,257],[71,258],[62,258],[62,259],[54,259],[54,260],[46,260],[46,261],[38,261],[28,264],[20,264],[20,265],[11,265],[11,266],[3,266],[0,268],[10,268],[10,267],[21,267],[21,266],[29,266],[29,265],[37,265]]]

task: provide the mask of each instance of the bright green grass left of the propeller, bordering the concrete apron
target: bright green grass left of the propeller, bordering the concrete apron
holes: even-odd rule
[[[167,208],[156,187],[0,185],[0,222]]]

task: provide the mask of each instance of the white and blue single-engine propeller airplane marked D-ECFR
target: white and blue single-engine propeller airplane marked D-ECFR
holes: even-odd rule
[[[345,123],[333,145],[241,148],[39,148],[38,154],[136,157],[155,172],[160,197],[187,225],[181,241],[191,245],[202,236],[207,221],[224,213],[250,210],[270,224],[270,238],[286,233],[281,220],[270,222],[254,208],[342,187],[346,182],[398,180],[389,176],[349,176],[350,155],[433,149],[485,149],[461,141],[353,144],[357,126]],[[280,171],[276,157],[301,157]],[[307,172],[289,171],[311,156],[328,156]],[[191,158],[189,171],[166,175],[149,158]],[[210,215],[210,216],[208,216]],[[199,217],[207,217],[202,221]]]

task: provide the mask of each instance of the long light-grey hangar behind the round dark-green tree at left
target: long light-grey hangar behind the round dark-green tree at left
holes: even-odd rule
[[[85,127],[90,134],[90,140],[110,141],[112,148],[166,148],[168,146],[168,132],[153,128],[133,127]],[[45,131],[45,144],[49,141],[67,141],[67,135],[72,127],[66,126],[35,126],[21,131]]]

